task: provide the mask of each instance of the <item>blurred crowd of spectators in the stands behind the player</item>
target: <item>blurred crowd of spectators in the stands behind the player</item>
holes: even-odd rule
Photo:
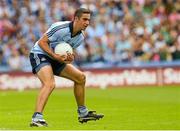
[[[34,43],[79,7],[93,14],[77,65],[180,60],[179,0],[0,0],[0,65],[29,71]]]

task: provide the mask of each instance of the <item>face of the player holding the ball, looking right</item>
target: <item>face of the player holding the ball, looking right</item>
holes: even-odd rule
[[[90,14],[82,14],[82,16],[80,18],[76,18],[77,23],[78,23],[78,27],[80,28],[80,30],[85,30],[90,22]]]

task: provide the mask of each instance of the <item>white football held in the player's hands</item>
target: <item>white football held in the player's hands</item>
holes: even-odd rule
[[[67,53],[73,54],[73,49],[68,43],[61,42],[55,46],[54,52],[59,55],[67,55]]]

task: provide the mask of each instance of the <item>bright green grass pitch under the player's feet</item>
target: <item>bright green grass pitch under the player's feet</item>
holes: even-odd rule
[[[180,87],[86,89],[99,121],[81,124],[73,89],[55,89],[44,111],[48,127],[29,127],[38,90],[0,91],[0,130],[176,130],[180,129]]]

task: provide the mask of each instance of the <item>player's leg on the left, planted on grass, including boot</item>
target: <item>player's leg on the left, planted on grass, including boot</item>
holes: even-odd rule
[[[32,118],[31,126],[47,126],[47,123],[43,119],[42,112],[47,103],[49,95],[55,87],[55,80],[51,66],[46,65],[42,67],[38,71],[37,76],[42,83],[42,87],[37,98],[35,113]]]

